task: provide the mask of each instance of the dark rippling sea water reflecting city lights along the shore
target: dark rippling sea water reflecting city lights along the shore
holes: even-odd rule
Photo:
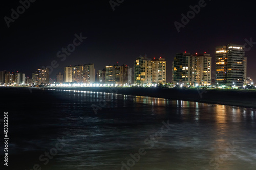
[[[0,93],[8,169],[256,169],[255,109],[80,91]]]

